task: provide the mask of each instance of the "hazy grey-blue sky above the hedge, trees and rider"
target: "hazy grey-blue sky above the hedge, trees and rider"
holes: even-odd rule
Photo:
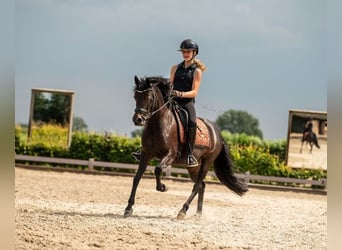
[[[75,91],[90,131],[130,136],[134,76],[169,77],[191,38],[208,67],[197,115],[244,110],[286,139],[290,109],[327,111],[325,0],[17,0],[15,121],[32,88]]]

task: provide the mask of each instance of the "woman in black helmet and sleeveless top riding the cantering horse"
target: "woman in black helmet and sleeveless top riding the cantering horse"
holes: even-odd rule
[[[198,55],[198,45],[191,39],[186,39],[180,44],[178,51],[182,52],[183,61],[173,65],[170,72],[170,83],[173,85],[172,95],[179,105],[188,112],[188,128],[186,138],[188,142],[188,155],[186,163],[188,167],[198,166],[193,155],[193,146],[196,139],[196,110],[195,97],[201,84],[202,72],[207,67],[195,56]],[[140,159],[140,152],[133,152],[133,157]]]

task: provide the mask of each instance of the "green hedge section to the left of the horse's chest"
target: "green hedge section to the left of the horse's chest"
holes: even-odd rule
[[[20,127],[15,129],[16,154],[47,156],[97,161],[135,163],[131,152],[139,149],[140,138],[128,138],[116,135],[76,132],[72,135],[70,147],[56,146],[50,141],[27,142]]]

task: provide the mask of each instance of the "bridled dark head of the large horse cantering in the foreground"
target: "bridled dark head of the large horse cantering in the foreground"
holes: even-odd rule
[[[162,77],[134,77],[134,99],[136,103],[133,122],[144,126],[145,122],[164,104],[168,94],[168,81]]]

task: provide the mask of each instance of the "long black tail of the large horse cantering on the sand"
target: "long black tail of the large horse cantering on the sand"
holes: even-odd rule
[[[242,196],[248,191],[247,185],[239,181],[233,173],[233,162],[229,147],[224,142],[221,153],[214,161],[214,170],[217,178],[234,193]]]

